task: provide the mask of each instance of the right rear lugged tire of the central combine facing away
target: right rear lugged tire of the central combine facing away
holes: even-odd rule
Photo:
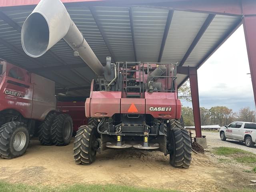
[[[181,128],[178,120],[170,120],[168,132],[170,164],[177,168],[189,168],[192,146],[188,130]]]

